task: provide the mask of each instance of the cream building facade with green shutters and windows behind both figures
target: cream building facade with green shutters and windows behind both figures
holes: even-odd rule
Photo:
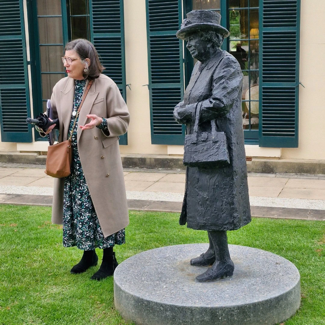
[[[314,10],[313,8],[317,8]],[[194,61],[176,38],[186,13],[221,13],[222,48],[244,75],[247,156],[325,159],[323,0],[7,0],[0,3],[0,149],[42,152],[25,122],[45,110],[65,77],[64,44],[95,45],[131,114],[125,154],[181,155],[185,128],[173,118]]]

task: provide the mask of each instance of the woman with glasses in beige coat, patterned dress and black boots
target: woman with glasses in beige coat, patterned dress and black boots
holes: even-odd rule
[[[62,61],[68,77],[54,86],[51,106],[59,118],[59,142],[72,133],[72,167],[71,175],[55,179],[52,222],[63,223],[64,247],[84,251],[71,273],[96,266],[95,248],[103,249],[101,266],[91,277],[101,280],[118,265],[113,246],[125,243],[129,223],[118,136],[127,131],[130,116],[117,85],[101,74],[104,67],[92,43],[69,42]]]

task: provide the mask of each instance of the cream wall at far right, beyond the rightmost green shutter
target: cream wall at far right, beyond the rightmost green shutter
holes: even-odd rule
[[[301,1],[299,148],[282,158],[325,159],[325,1]]]

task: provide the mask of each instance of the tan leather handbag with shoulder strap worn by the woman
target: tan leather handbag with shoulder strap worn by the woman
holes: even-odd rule
[[[80,106],[78,108],[77,114],[74,117],[74,123],[72,130],[70,132],[70,137],[68,140],[57,143],[53,146],[48,146],[47,148],[47,158],[46,158],[46,169],[45,174],[56,177],[63,178],[67,177],[71,174],[71,163],[72,163],[72,148],[71,148],[71,139],[74,127],[77,122],[77,118],[79,116],[79,112],[81,110],[81,106],[85,101],[85,98],[88,94],[89,88],[93,83],[92,80],[89,81],[87,86],[85,96],[82,99]]]

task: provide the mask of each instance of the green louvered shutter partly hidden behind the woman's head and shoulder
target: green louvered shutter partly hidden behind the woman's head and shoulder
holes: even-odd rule
[[[123,0],[90,0],[91,42],[106,68],[103,73],[119,87],[126,102]],[[127,134],[120,137],[127,145]]]

